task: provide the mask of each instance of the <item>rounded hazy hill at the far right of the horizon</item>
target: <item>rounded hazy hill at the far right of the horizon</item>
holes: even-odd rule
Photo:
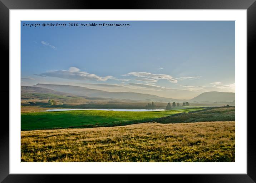
[[[235,93],[227,92],[205,92],[192,98],[190,101],[194,102],[233,102],[236,100]]]

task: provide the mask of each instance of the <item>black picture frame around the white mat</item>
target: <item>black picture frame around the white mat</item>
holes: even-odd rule
[[[92,0],[0,0],[0,45],[1,45],[1,66],[7,73],[1,72],[2,84],[5,90],[0,90],[1,96],[5,96],[3,101],[9,103],[9,10],[11,9],[246,9],[247,10],[247,83],[253,83],[252,70],[253,62],[256,60],[254,47],[256,46],[256,0],[140,0],[140,1],[119,1],[110,2]],[[120,3],[122,2],[122,4]],[[126,4],[124,3],[126,2]],[[246,62],[246,60],[245,60]],[[8,69],[7,69],[8,68]],[[250,74],[251,73],[251,74]],[[247,98],[256,94],[253,85],[247,84]],[[9,96],[10,97],[10,96]],[[247,119],[252,116],[253,108],[247,105]],[[8,107],[9,110],[9,107]],[[3,111],[6,111],[6,106]],[[254,121],[247,123],[247,174],[180,174],[162,175],[168,179],[179,180],[179,182],[197,183],[253,183],[256,182],[256,138],[253,128]],[[29,174],[9,174],[9,124],[7,120],[1,120],[0,133],[0,182],[9,183],[29,183],[29,182],[75,182],[79,178],[94,178],[94,181],[109,175],[29,175]],[[120,176],[120,175],[116,175]],[[127,176],[127,175],[125,175]],[[152,175],[144,176],[151,179]],[[167,177],[161,177],[167,178]],[[177,178],[177,179],[176,179]],[[128,177],[127,181],[134,178]],[[89,180],[89,179],[88,179]],[[120,180],[120,179],[119,179]],[[145,181],[146,179],[144,179]]]

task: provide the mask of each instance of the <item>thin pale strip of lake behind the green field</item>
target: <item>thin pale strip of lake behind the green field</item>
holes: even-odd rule
[[[75,111],[75,110],[101,110],[101,111],[129,111],[129,112],[146,112],[146,111],[165,111],[165,109],[49,109],[52,111]]]

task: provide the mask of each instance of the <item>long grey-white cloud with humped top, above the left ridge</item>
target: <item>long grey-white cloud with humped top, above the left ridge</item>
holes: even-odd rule
[[[101,77],[95,74],[91,74],[85,71],[80,71],[77,67],[70,67],[69,70],[53,70],[40,74],[34,74],[41,77],[58,77],[68,80],[95,80],[95,81],[107,81],[107,80],[117,80],[117,81],[129,81],[129,79],[118,79],[113,76]]]

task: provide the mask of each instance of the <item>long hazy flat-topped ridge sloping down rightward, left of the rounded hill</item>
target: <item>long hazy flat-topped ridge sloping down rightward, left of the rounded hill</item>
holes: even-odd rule
[[[71,93],[76,96],[86,97],[102,97],[102,98],[117,98],[128,99],[137,101],[154,101],[154,102],[183,102],[173,98],[164,98],[156,95],[136,93],[136,92],[107,92],[102,90],[94,90],[87,87],[70,86],[70,85],[50,85],[50,84],[37,84],[32,87],[47,88],[58,92]]]

